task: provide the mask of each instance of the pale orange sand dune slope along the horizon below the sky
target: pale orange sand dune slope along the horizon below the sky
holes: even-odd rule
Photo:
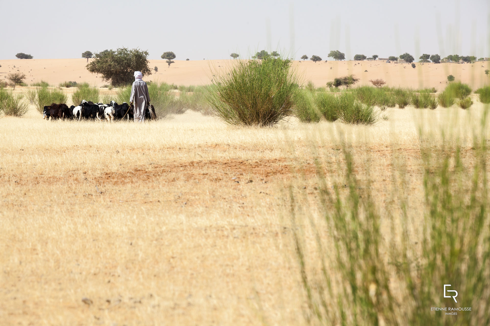
[[[92,60],[92,59],[89,59]],[[213,72],[223,72],[233,60],[180,61],[168,67],[164,60],[150,60],[149,66],[158,67],[158,72],[145,80],[173,83],[176,85],[207,85],[211,83]],[[0,60],[0,79],[9,72],[23,72],[27,75],[26,83],[31,84],[44,80],[53,86],[64,81],[88,82],[94,86],[108,84],[100,76],[91,74],[85,68],[86,59],[31,59]],[[15,65],[15,67],[14,67]],[[474,89],[486,85],[490,78],[485,69],[490,69],[490,62],[474,64],[419,64],[414,69],[409,64],[387,64],[385,62],[312,61],[294,62],[303,81],[311,80],[317,87],[335,77],[354,74],[361,79],[360,84],[369,84],[370,79],[384,79],[388,86],[403,87],[436,87],[441,90],[446,86],[446,77],[450,74]],[[367,70],[367,71],[366,71]]]

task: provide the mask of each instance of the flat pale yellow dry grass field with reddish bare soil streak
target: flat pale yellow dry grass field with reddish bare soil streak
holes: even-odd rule
[[[144,125],[47,122],[32,106],[3,117],[1,324],[305,325],[288,187],[314,203],[315,158],[334,185],[348,148],[381,209],[403,169],[409,217],[422,220],[420,149],[457,141],[471,166],[484,112],[474,101],[388,109],[374,126],[239,128],[190,111]]]

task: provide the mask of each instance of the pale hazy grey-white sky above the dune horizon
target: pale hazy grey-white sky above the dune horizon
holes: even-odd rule
[[[246,57],[264,48],[296,59],[330,60],[337,49],[347,59],[404,52],[490,57],[488,0],[0,0],[0,8],[0,59],[18,52],[79,58],[121,46],[145,49],[149,59],[173,51],[176,60]]]

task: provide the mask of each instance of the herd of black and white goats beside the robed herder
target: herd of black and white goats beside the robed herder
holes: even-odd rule
[[[145,109],[145,119],[155,119],[155,108],[153,105],[149,106],[151,111]],[[64,104],[51,104],[44,107],[43,119],[80,119],[87,120],[107,120],[108,122],[116,120],[123,120],[127,117],[127,120],[134,117],[133,104],[128,105],[126,102],[123,104],[117,104],[116,101],[111,101],[109,104],[93,103],[82,100],[79,106],[72,105],[70,108]]]

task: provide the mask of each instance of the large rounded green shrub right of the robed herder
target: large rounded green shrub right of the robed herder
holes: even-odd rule
[[[269,126],[292,113],[296,76],[287,59],[240,61],[214,78],[209,101],[226,123]]]

